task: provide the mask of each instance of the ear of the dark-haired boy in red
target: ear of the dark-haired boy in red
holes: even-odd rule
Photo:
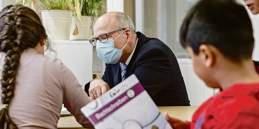
[[[199,47],[199,55],[201,56],[202,60],[205,62],[206,67],[212,67],[216,61],[215,53],[210,48],[210,46],[202,44]]]

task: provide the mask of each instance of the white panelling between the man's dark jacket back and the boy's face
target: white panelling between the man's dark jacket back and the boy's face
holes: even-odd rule
[[[206,86],[206,84],[195,74],[191,59],[178,58],[177,60],[184,78],[190,105],[200,106],[204,101],[212,97],[216,91],[214,91],[213,88]]]

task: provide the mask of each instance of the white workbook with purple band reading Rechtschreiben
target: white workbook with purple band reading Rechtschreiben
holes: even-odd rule
[[[81,111],[95,129],[172,129],[134,74]]]

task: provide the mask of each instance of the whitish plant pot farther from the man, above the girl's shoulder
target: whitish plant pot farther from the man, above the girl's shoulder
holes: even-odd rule
[[[69,40],[73,11],[41,11],[43,26],[51,40]]]

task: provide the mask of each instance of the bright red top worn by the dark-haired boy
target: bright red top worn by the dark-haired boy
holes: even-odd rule
[[[258,129],[259,83],[236,84],[204,102],[191,129]]]

